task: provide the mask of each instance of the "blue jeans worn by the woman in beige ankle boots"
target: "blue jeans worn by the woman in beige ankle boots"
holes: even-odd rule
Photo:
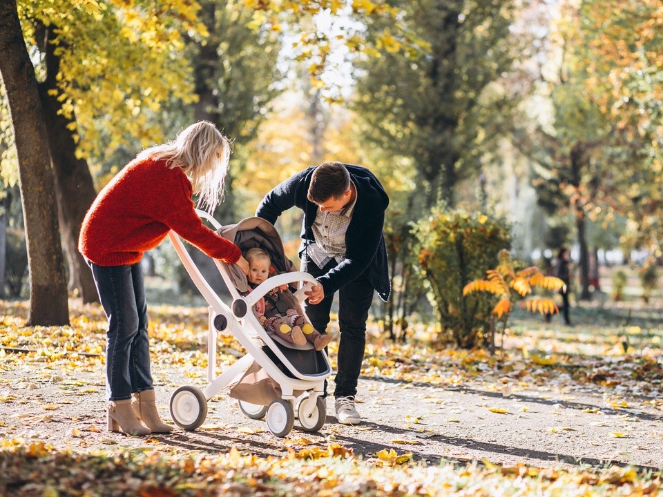
[[[140,262],[131,266],[88,264],[108,319],[106,396],[125,400],[131,393],[153,389],[143,270]]]

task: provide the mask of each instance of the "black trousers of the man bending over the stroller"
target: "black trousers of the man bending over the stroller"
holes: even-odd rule
[[[306,262],[306,271],[314,277],[322,276],[334,269],[336,261],[332,260],[320,269],[310,259]],[[319,304],[306,302],[305,311],[313,327],[325,333],[329,324],[329,313],[332,310],[334,293],[325,295]],[[336,390],[334,397],[355,396],[357,393],[357,380],[361,373],[361,362],[366,347],[366,320],[368,310],[373,302],[373,286],[364,275],[358,276],[352,282],[338,291],[338,328],[340,342],[338,343],[338,357],[336,358]]]

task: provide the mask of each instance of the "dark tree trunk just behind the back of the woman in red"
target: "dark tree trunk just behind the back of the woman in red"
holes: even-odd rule
[[[46,81],[39,85],[39,96],[44,106],[44,119],[48,131],[50,158],[55,173],[55,198],[59,226],[69,263],[69,289],[77,289],[84,303],[99,302],[92,271],[78,251],[81,224],[97,192],[86,159],[76,157],[76,142],[73,131],[68,128],[74,121],[61,115],[61,104],[57,100],[56,76],[59,72],[59,57],[50,43],[52,26],[44,28],[46,53]],[[40,37],[41,38],[41,37]],[[49,94],[52,92],[52,94]]]

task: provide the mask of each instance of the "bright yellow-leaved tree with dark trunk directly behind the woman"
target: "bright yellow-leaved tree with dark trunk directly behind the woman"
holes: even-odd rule
[[[177,88],[186,91],[182,81],[186,81],[187,66],[177,61],[173,67],[173,52],[178,48],[178,30],[192,27],[195,8],[163,2],[117,6],[79,0],[21,0],[18,8],[26,42],[40,55],[34,58],[38,61],[35,71],[41,79],[39,95],[55,171],[69,286],[78,289],[84,302],[93,302],[97,291],[77,241],[96,195],[87,160],[100,148],[95,128],[102,121],[104,129],[111,130],[115,146],[126,130],[129,135],[159,141],[162,126],[148,116],[160,101],[180,94]],[[155,68],[182,81],[172,86],[169,77],[155,78]],[[113,127],[113,121],[122,125]]]

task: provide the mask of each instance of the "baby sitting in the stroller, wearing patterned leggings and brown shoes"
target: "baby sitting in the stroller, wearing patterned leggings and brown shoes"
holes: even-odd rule
[[[267,251],[257,247],[249,249],[244,258],[249,262],[249,286],[253,289],[269,277],[271,258]],[[258,300],[253,310],[262,327],[270,335],[276,335],[296,345],[311,342],[316,351],[324,349],[332,341],[332,336],[314,329],[298,313],[296,302],[288,286],[281,285]]]

